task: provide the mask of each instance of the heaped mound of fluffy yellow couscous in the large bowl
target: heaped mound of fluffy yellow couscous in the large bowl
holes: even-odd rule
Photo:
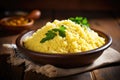
[[[51,40],[40,41],[45,38],[46,33],[52,29],[59,29],[65,26],[65,36],[61,37],[59,32]],[[36,52],[67,54],[83,52],[98,48],[105,44],[105,39],[100,37],[95,31],[83,28],[71,20],[54,20],[38,29],[31,37],[24,40],[27,49]]]

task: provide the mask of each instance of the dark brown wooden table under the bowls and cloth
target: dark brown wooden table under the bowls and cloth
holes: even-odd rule
[[[66,19],[71,16],[88,17],[91,27],[110,34],[113,38],[112,48],[120,52],[120,15],[106,11],[43,11],[42,16],[34,24],[39,28],[54,19]],[[34,72],[24,72],[25,66],[12,66],[6,62],[9,53],[2,47],[3,43],[15,43],[19,34],[0,31],[0,80],[120,80],[120,64],[62,78],[48,78]]]

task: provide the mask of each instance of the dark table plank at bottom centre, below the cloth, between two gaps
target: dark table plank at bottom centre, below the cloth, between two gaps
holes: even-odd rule
[[[91,80],[89,72],[83,74],[77,74],[73,76],[59,77],[59,78],[48,78],[41,74],[36,74],[31,71],[25,73],[24,80]]]

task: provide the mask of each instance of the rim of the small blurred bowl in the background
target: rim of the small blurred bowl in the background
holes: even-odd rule
[[[27,24],[22,24],[22,25],[6,25],[3,23],[3,21],[7,21],[9,19],[14,19],[14,18],[20,18],[20,17],[23,17],[25,19],[28,19],[30,20]],[[31,26],[33,25],[34,23],[34,20],[31,19],[31,18],[27,18],[27,17],[24,17],[24,16],[11,16],[11,17],[4,17],[0,20],[0,25],[3,25],[3,26],[12,26],[12,27],[24,27],[24,26]]]

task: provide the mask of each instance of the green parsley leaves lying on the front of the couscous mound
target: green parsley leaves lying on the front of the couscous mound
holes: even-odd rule
[[[61,25],[60,28],[54,28],[52,30],[49,30],[45,35],[46,37],[43,38],[40,43],[44,43],[45,41],[53,39],[55,36],[57,36],[56,32],[59,32],[59,36],[65,37],[65,29],[66,27],[64,25]]]

